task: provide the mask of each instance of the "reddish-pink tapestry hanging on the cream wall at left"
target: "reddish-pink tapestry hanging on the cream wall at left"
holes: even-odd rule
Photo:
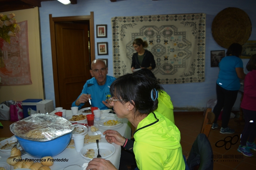
[[[1,85],[32,84],[28,56],[28,21],[18,23],[20,32],[11,37],[11,43],[0,39],[4,67],[0,68]]]

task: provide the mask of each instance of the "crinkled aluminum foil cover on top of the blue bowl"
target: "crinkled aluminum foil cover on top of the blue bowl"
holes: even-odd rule
[[[74,126],[63,117],[48,114],[32,114],[10,125],[12,133],[20,138],[45,142],[66,135]]]

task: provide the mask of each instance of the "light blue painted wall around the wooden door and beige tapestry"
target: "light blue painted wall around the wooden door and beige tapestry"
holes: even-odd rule
[[[90,15],[94,12],[94,27],[99,24],[108,25],[109,52],[104,55],[108,58],[108,75],[113,76],[113,52],[112,52],[112,30],[111,18],[119,16],[140,16],[160,14],[186,14],[206,13],[206,49],[205,49],[205,82],[164,85],[165,91],[171,96],[176,110],[203,110],[209,99],[216,99],[215,85],[219,73],[218,67],[210,66],[211,50],[226,50],[220,47],[213,39],[211,26],[214,17],[221,10],[227,7],[237,7],[244,10],[252,21],[252,34],[249,40],[256,40],[256,1],[255,0],[77,0],[77,4],[63,5],[58,1],[46,1],[41,3],[40,11],[42,53],[44,67],[44,83],[46,99],[55,99],[53,73],[52,73],[52,52],[50,39],[49,14],[52,17]],[[102,38],[96,38],[102,42]],[[97,51],[97,49],[95,50]],[[102,58],[97,56],[96,58]],[[243,59],[244,68],[249,59]],[[245,73],[247,70],[244,69]],[[82,89],[81,89],[82,90]],[[234,109],[238,110],[241,95],[238,94]],[[55,103],[55,100],[54,100]]]

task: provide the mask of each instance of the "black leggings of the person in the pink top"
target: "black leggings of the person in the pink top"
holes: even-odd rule
[[[255,137],[256,137],[256,111],[252,110],[246,110],[243,109],[244,113],[244,120],[245,120],[245,125],[244,125],[244,130],[241,134],[241,145],[245,146],[246,141],[248,139],[248,142],[254,142]]]

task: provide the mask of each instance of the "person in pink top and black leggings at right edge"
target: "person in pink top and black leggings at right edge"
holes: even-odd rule
[[[250,149],[256,151],[254,143],[256,137],[256,54],[251,56],[246,69],[250,72],[244,79],[244,97],[241,103],[245,125],[237,151],[245,156],[253,156]]]

